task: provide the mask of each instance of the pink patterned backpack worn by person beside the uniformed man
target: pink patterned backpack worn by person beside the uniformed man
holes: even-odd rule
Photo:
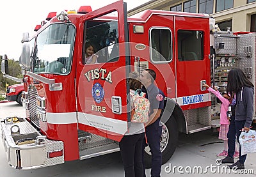
[[[130,91],[131,105],[132,105],[131,122],[147,123],[148,121],[150,102],[143,95],[145,95],[145,93],[143,94],[143,92],[138,90]]]

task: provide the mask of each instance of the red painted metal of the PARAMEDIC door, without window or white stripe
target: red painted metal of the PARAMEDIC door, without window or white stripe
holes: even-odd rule
[[[210,59],[209,59],[209,19],[192,17],[175,17],[175,34],[179,29],[204,31],[204,59],[195,61],[177,61],[177,97],[209,93],[200,91],[200,81],[206,80],[210,84]],[[177,36],[175,39],[177,42]],[[178,51],[176,45],[176,52]],[[177,56],[177,53],[176,53]],[[196,109],[211,105],[211,102],[202,102],[182,106],[182,109]]]

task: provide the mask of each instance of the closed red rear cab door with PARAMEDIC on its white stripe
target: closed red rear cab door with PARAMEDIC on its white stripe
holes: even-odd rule
[[[210,105],[209,19],[175,17],[177,102],[182,109]]]

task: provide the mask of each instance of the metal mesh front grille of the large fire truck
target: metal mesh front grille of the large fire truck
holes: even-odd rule
[[[29,100],[29,118],[36,127],[40,128],[39,119],[36,116],[36,96],[37,90],[35,86],[30,85],[28,88],[28,100]]]

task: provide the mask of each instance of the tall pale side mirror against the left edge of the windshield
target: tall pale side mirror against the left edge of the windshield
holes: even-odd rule
[[[23,33],[22,37],[22,52],[20,55],[20,66],[22,70],[30,70],[30,49],[28,33]]]

